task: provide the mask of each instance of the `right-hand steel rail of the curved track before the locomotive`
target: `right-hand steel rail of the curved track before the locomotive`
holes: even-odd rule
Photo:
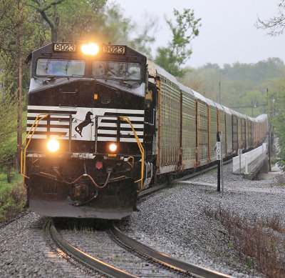
[[[167,254],[158,252],[155,249],[147,247],[145,244],[137,242],[135,239],[132,239],[128,237],[127,235],[123,234],[123,232],[121,232],[120,229],[118,229],[118,227],[115,227],[115,224],[113,224],[112,232],[115,235],[115,237],[117,237],[120,240],[120,242],[123,242],[123,244],[127,245],[130,248],[135,249],[137,252],[147,257],[150,257],[156,262],[159,262],[160,264],[164,264],[167,267],[170,267],[177,271],[184,272],[185,274],[190,274],[190,275],[198,275],[199,277],[230,278],[230,276],[226,274],[214,272],[212,270],[205,269],[203,267],[198,267],[195,264],[188,264],[187,262],[183,262],[180,259],[170,257]]]

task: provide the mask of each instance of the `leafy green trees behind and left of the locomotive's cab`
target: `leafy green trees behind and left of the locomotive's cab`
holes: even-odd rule
[[[148,44],[154,41],[150,36],[154,21],[147,21],[141,28],[123,16],[120,6],[106,5],[107,0],[22,0],[21,3],[21,9],[18,9],[18,0],[3,0],[0,5],[0,124],[4,126],[0,131],[0,164],[14,156],[17,146],[19,49],[24,64],[31,51],[56,38],[129,44],[146,54],[150,52]],[[135,33],[133,38],[130,38],[130,31]],[[17,41],[19,34],[21,44]],[[29,67],[22,69],[25,100],[30,82]],[[22,126],[25,129],[26,124]]]

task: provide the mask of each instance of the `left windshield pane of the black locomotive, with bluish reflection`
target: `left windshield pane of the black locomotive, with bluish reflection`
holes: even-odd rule
[[[68,59],[38,59],[36,74],[39,76],[83,76],[85,61]]]

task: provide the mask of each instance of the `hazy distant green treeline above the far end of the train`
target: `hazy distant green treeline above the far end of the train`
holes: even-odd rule
[[[221,104],[242,114],[258,116],[266,113],[270,90],[284,76],[284,61],[269,58],[256,64],[224,64],[222,68],[208,63],[190,69],[180,81],[209,99],[217,102],[220,99]]]

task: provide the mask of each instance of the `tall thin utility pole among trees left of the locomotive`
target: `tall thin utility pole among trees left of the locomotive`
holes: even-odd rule
[[[22,3],[18,0],[18,11],[21,16]],[[21,162],[21,146],[22,146],[22,94],[23,94],[23,80],[22,80],[22,34],[21,34],[21,19],[18,26],[18,79],[17,79],[17,99],[18,99],[18,116],[17,116],[17,158],[18,167]],[[20,169],[20,167],[19,167]]]

